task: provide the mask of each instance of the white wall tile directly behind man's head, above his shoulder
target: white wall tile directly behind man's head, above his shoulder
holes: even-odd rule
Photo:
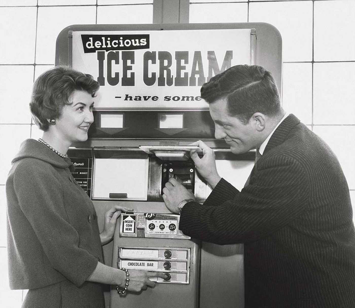
[[[304,124],[312,123],[312,63],[284,63],[282,107]]]

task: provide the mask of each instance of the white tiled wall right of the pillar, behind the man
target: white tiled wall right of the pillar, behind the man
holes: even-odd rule
[[[283,107],[321,136],[355,218],[355,1],[190,0],[190,23],[267,22],[283,41]]]

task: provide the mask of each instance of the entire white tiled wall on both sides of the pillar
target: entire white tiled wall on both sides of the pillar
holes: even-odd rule
[[[284,108],[332,147],[354,204],[355,1],[190,2],[191,23],[268,22],[279,29]],[[0,275],[6,278],[7,172],[21,141],[41,135],[28,110],[33,80],[53,67],[55,40],[66,26],[152,23],[153,0],[0,0],[0,18]],[[1,307],[20,307],[24,293],[2,279]]]

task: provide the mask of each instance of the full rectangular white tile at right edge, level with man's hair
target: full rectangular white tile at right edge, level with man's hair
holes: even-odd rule
[[[355,124],[355,62],[314,63],[314,124]]]

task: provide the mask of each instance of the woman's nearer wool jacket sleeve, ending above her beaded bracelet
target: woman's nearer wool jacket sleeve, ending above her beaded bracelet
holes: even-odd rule
[[[66,215],[65,192],[60,181],[53,173],[48,173],[48,167],[20,163],[13,185],[18,204],[50,264],[73,284],[81,286],[98,260],[79,247],[79,235]]]

